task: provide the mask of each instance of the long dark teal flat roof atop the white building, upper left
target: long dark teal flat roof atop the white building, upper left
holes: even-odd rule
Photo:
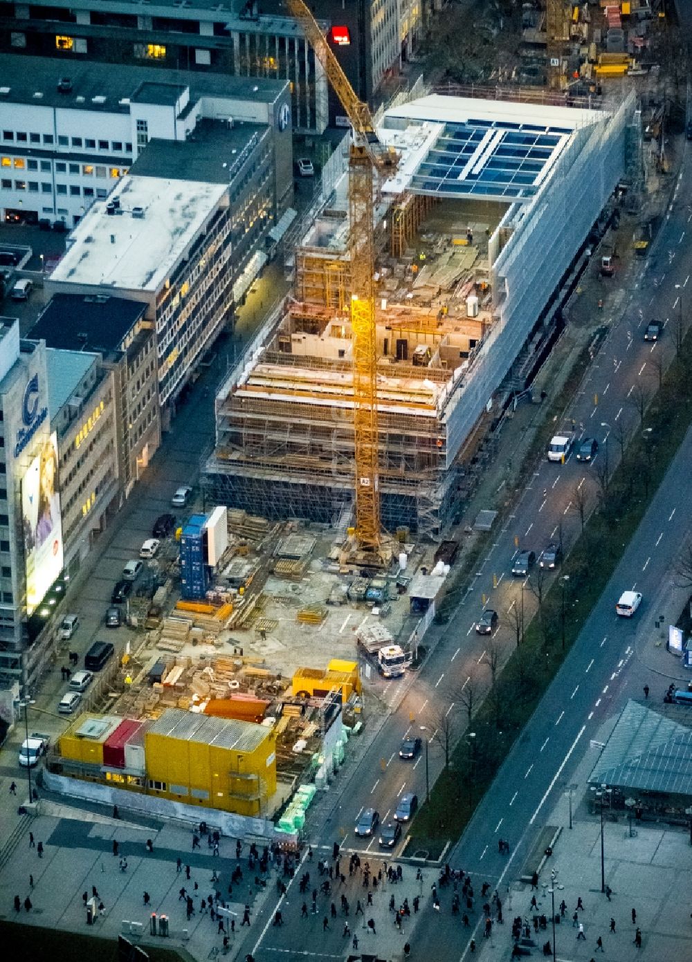
[[[137,10],[133,8],[131,12],[137,13]],[[152,11],[147,9],[147,13]],[[191,100],[217,95],[273,103],[288,83],[286,80],[231,77],[225,73],[121,63],[114,69],[112,63],[66,63],[63,58],[6,53],[0,54],[0,77],[3,78],[0,81],[0,102],[6,100],[109,114],[129,114],[130,103],[173,106],[186,88],[190,88]],[[69,77],[72,83],[68,93],[58,91],[61,77]],[[94,100],[94,97],[98,99]]]

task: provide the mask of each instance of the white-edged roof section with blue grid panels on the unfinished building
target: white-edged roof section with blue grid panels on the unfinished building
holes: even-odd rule
[[[383,190],[529,201],[580,127],[601,111],[434,93],[385,114],[378,137],[393,146],[397,176]]]

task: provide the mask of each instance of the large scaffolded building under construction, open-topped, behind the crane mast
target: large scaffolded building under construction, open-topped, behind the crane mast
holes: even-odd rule
[[[626,170],[633,96],[593,109],[512,95],[424,96],[377,128],[400,158],[375,198],[379,494],[390,531],[437,539],[454,519],[475,445],[550,342],[589,231]],[[218,503],[348,517],[346,211],[337,190],[295,251],[293,306],[218,393],[206,468]]]

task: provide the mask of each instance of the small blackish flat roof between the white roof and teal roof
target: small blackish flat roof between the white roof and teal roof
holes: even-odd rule
[[[145,311],[146,304],[124,297],[53,294],[30,336],[48,347],[107,354],[122,350]]]

